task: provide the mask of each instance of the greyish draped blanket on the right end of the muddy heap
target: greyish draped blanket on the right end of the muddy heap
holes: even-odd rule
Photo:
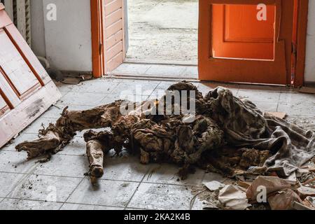
[[[255,104],[233,97],[223,87],[209,92],[205,99],[211,102],[211,118],[222,128],[229,146],[248,148],[247,155],[243,155],[245,158],[253,155],[248,158],[252,165],[259,165],[270,155],[261,167],[248,167],[248,171],[289,176],[314,157],[315,132],[304,131],[268,113],[263,115]]]

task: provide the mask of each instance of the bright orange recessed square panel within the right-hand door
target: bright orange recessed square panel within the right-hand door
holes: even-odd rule
[[[257,19],[253,5],[213,5],[214,57],[274,59],[274,6],[267,6],[267,20]]]

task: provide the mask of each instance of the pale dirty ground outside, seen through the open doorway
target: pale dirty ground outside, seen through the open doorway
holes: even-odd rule
[[[128,0],[127,4],[127,60],[197,64],[197,0]]]

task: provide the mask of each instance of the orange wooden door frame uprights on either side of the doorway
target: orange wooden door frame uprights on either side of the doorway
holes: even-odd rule
[[[200,0],[207,1],[207,0]],[[306,41],[307,41],[307,18],[309,10],[309,0],[294,0],[294,22],[293,22],[293,45],[295,45],[295,55],[293,54],[292,76],[295,87],[304,85]],[[103,31],[103,0],[90,0],[91,5],[91,27],[92,27],[92,73],[94,78],[105,75],[104,60],[104,31]],[[199,18],[201,19],[201,18]],[[198,30],[200,35],[200,30]],[[200,36],[199,41],[200,42]],[[201,45],[199,45],[201,48]],[[200,50],[198,50],[200,51]]]

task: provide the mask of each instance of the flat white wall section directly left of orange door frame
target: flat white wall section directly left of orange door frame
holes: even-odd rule
[[[48,21],[44,16],[45,55],[51,66],[92,71],[90,0],[43,0],[44,15],[49,3],[57,6],[57,21]]]

